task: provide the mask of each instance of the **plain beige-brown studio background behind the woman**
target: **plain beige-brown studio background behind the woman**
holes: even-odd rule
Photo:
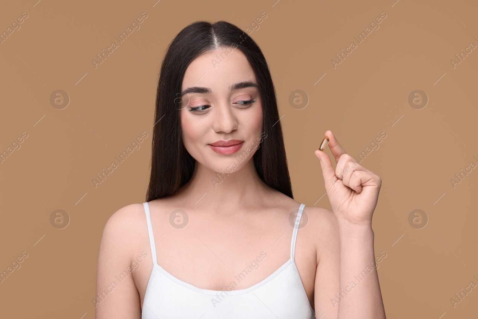
[[[273,73],[295,199],[330,208],[314,155],[327,129],[352,156],[385,132],[361,164],[383,180],[373,230],[375,254],[387,253],[378,270],[387,318],[477,318],[478,288],[450,302],[478,284],[478,169],[450,182],[478,165],[478,49],[450,62],[478,45],[475,1],[36,1],[0,5],[1,32],[28,14],[0,44],[0,151],[28,134],[0,164],[0,271],[28,253],[0,283],[2,317],[94,318],[103,227],[144,201],[164,50],[190,22],[246,30],[265,12],[251,36]],[[95,69],[91,60],[142,12],[141,28]],[[381,12],[380,28],[334,68],[331,59]],[[50,104],[57,89],[71,99],[63,110]],[[302,110],[288,102],[296,89],[309,99]],[[424,109],[408,103],[415,89],[429,98]],[[141,148],[93,187],[141,132]],[[70,216],[66,228],[50,224],[55,209]],[[428,216],[422,229],[409,224],[414,209]]]

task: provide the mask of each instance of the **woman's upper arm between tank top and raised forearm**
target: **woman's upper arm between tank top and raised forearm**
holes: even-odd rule
[[[315,231],[317,242],[317,268],[315,272],[315,316],[321,319],[337,319],[340,283],[340,238],[335,214],[320,209],[320,223]],[[337,302],[333,302],[335,299]],[[323,315],[323,317],[321,317]]]

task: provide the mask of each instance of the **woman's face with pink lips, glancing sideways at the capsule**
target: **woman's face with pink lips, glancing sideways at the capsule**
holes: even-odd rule
[[[246,56],[237,48],[198,56],[186,69],[181,92],[182,137],[189,154],[215,172],[236,172],[249,162],[262,141],[262,104]]]

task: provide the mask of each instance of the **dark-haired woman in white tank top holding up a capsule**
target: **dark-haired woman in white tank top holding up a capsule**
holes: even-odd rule
[[[326,131],[336,170],[315,155],[333,211],[295,201],[279,119],[246,33],[224,21],[178,33],[160,71],[147,201],[103,232],[96,318],[385,318],[371,229],[380,177]]]

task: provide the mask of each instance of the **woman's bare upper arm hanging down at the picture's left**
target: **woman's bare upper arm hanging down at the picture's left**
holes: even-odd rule
[[[141,204],[116,211],[103,230],[96,278],[96,319],[141,318],[139,293],[131,275],[138,205]]]

